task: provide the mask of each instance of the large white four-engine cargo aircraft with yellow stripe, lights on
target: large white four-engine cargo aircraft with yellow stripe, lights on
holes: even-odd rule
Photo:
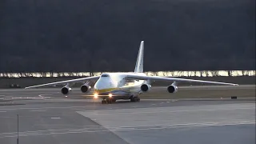
[[[203,82],[211,84],[222,84],[238,86],[234,83],[226,82],[211,82],[186,78],[166,78],[158,76],[147,76],[143,73],[143,55],[144,55],[144,41],[140,43],[138,50],[138,58],[135,65],[134,72],[131,73],[103,73],[100,76],[93,76],[87,78],[77,78],[62,82],[46,83],[38,86],[29,86],[25,89],[40,87],[40,86],[55,86],[63,85],[62,94],[70,94],[71,85],[75,82],[82,82],[80,87],[82,93],[93,93],[94,98],[101,98],[102,104],[112,103],[118,99],[129,99],[130,102],[139,102],[139,94],[150,91],[151,83],[155,81],[168,81],[170,86],[167,86],[169,93],[176,93],[178,91],[177,82]],[[94,83],[92,88],[91,83]]]

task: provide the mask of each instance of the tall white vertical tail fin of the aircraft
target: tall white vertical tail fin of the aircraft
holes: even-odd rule
[[[141,42],[138,50],[138,58],[134,73],[143,73],[143,56],[144,56],[144,41]]]

